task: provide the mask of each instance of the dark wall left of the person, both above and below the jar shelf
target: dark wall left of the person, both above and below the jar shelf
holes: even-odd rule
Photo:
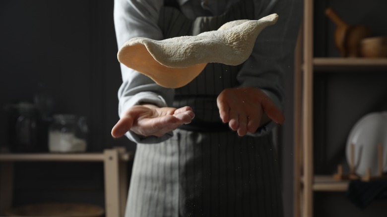
[[[113,0],[0,1],[0,147],[8,146],[5,105],[36,94],[54,99],[53,113],[87,117],[89,152],[113,146],[121,72]],[[47,144],[45,144],[47,146]],[[47,201],[104,206],[102,163],[16,163],[14,204]]]

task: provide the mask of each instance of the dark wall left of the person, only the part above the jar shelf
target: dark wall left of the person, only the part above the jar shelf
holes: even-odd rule
[[[45,92],[54,98],[53,113],[88,118],[89,151],[116,144],[110,129],[118,119],[121,74],[113,1],[4,0],[0,6],[1,108]],[[4,120],[6,113],[0,115]]]

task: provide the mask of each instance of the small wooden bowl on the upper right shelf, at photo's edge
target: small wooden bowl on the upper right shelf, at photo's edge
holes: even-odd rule
[[[387,57],[387,36],[363,39],[360,43],[360,53],[363,57]]]

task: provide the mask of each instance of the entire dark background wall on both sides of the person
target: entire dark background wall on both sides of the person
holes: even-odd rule
[[[333,6],[351,24],[387,35],[385,0],[315,0],[315,56],[339,56],[334,24],[323,10]],[[53,113],[87,117],[88,152],[135,146],[113,139],[118,120],[121,72],[116,58],[113,0],[0,1],[0,146],[7,146],[5,105],[55,100]],[[293,214],[293,75],[286,75],[286,122],[278,131],[285,216]],[[368,112],[387,109],[384,72],[319,72],[315,75],[315,171],[331,174],[344,162],[347,135]],[[130,163],[129,163],[130,164]],[[85,202],[104,206],[102,163],[16,163],[15,206],[38,202]],[[315,216],[385,216],[386,201],[359,210],[345,193],[315,193]]]

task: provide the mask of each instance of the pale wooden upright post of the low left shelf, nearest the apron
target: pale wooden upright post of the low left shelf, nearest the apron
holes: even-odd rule
[[[119,154],[115,149],[104,151],[105,213],[106,217],[121,217]]]

